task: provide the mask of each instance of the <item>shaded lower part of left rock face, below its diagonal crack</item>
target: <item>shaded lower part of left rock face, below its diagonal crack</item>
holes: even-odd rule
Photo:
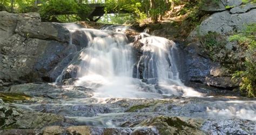
[[[67,44],[36,38],[26,39],[17,34],[2,44],[0,79],[10,82],[37,82],[44,76],[57,78],[57,75],[50,76],[48,72],[72,51]]]

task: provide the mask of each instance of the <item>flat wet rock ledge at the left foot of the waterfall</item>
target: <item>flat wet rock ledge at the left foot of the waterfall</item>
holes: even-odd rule
[[[32,97],[50,99],[87,98],[92,96],[92,90],[85,87],[57,86],[53,84],[21,84],[11,86],[10,93],[22,93]]]

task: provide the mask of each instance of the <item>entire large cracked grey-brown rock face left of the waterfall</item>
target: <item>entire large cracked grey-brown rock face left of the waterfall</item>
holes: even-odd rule
[[[68,63],[62,59],[74,51],[68,44],[69,31],[57,23],[41,22],[37,13],[2,11],[0,18],[0,79],[19,83],[55,80]]]

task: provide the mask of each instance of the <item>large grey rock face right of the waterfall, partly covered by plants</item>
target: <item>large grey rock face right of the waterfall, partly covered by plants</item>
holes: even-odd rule
[[[188,43],[186,47],[188,52],[186,63],[190,68],[188,71],[191,81],[225,89],[238,87],[238,82],[234,82],[231,79],[231,75],[227,75],[224,70],[219,70],[221,68],[219,68],[220,64],[218,61],[213,62],[205,52],[202,52],[203,49],[200,48],[202,43],[199,42],[199,38],[208,35],[209,32],[215,32],[225,40],[228,39],[228,35],[244,29],[246,24],[256,23],[256,9],[252,7],[253,4],[247,4],[232,8],[230,11],[216,12],[208,16],[198,28],[190,33],[186,39]],[[240,8],[246,9],[246,11],[238,11],[241,10]],[[240,12],[242,14],[237,14]],[[245,53],[242,53],[242,49],[239,48],[237,43],[231,43],[227,40],[225,48],[228,53],[220,52],[219,55],[231,54],[234,59],[242,59],[244,57],[243,54]],[[234,48],[237,51],[234,51]],[[222,51],[225,51],[225,49]]]

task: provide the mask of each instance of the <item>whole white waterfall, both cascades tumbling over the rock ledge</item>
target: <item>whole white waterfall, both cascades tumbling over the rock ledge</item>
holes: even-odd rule
[[[72,32],[79,31],[86,36],[87,46],[77,51],[58,79],[72,71],[70,76],[78,78],[74,85],[95,89],[95,97],[200,96],[179,78],[174,42],[142,33],[139,42],[143,44],[140,48],[143,53],[136,56],[133,43],[122,33],[125,30],[118,27],[121,32],[112,32],[109,28],[113,29],[73,29]]]

